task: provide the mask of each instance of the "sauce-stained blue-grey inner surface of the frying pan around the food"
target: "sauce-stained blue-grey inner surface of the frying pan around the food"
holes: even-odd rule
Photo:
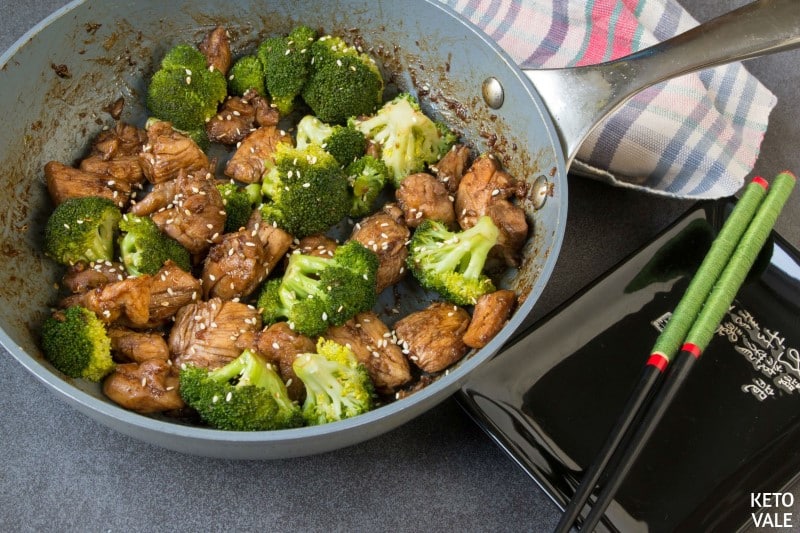
[[[549,117],[508,57],[435,2],[333,1],[315,2],[313,8],[305,5],[288,0],[75,2],[34,28],[0,58],[0,85],[4,89],[0,107],[5,115],[0,130],[0,164],[4,169],[0,182],[7,192],[0,196],[0,250],[4,256],[0,261],[0,340],[40,380],[101,421],[123,419],[126,426],[133,423],[145,427],[152,419],[110,404],[97,385],[64,380],[42,358],[37,331],[56,300],[55,283],[61,274],[60,267],[40,251],[44,222],[52,209],[42,169],[47,161],[70,164],[83,157],[91,140],[113,125],[103,108],[119,97],[125,99],[121,120],[143,125],[144,80],[158,59],[179,42],[199,42],[216,25],[228,28],[235,54],[250,52],[264,37],[286,33],[301,23],[358,42],[382,65],[390,83],[389,93],[415,93],[425,111],[447,122],[475,153],[492,151],[516,177],[533,183],[545,176],[551,183],[551,196],[542,209],[534,212],[531,200],[523,202],[534,229],[525,245],[523,264],[509,271],[500,283],[525,298],[511,324],[449,375],[401,402],[362,415],[359,423],[374,428],[331,441],[328,449],[391,429],[453,392],[472,368],[488,359],[513,333],[550,275],[566,220],[564,163]],[[481,96],[481,83],[490,76],[505,90],[500,109],[488,107]],[[399,299],[384,295],[381,306],[387,317],[395,315],[394,309],[402,315],[431,299],[431,295],[410,287],[399,291]],[[404,415],[395,416],[400,411],[405,411]],[[396,420],[389,421],[391,417]],[[119,424],[116,428],[129,430]],[[136,435],[133,429],[130,431]],[[313,437],[336,432],[337,428],[299,431]],[[279,441],[281,433],[260,435],[264,441]],[[294,432],[292,439],[297,435]],[[171,446],[179,448],[180,444]],[[189,451],[198,452],[194,448]],[[208,453],[217,454],[213,450]],[[250,455],[300,453],[305,452],[267,450]],[[219,455],[235,454],[220,451]]]

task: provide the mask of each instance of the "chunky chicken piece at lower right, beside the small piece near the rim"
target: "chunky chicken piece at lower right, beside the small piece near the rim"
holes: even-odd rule
[[[434,302],[395,324],[395,333],[408,358],[425,372],[440,372],[466,355],[464,333],[469,313],[444,302]]]

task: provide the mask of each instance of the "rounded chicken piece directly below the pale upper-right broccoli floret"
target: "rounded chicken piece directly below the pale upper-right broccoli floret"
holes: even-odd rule
[[[416,228],[427,219],[455,226],[454,198],[445,184],[432,175],[419,172],[406,176],[395,195],[409,227]]]

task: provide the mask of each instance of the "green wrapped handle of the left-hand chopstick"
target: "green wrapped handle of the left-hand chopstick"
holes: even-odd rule
[[[651,353],[661,358],[660,365],[665,366],[678,353],[683,341],[686,339],[686,334],[703,307],[703,302],[711,292],[711,288],[730,260],[736,245],[739,244],[739,240],[747,229],[748,224],[750,224],[758,207],[764,200],[768,187],[769,185],[763,178],[754,178],[747,185],[742,197],[736,202],[736,206],[730,216],[728,216],[719,234],[711,243],[711,248],[709,248],[703,262],[700,263],[700,267],[692,277],[692,281],[689,282],[689,287],[687,287],[667,325],[653,345]]]

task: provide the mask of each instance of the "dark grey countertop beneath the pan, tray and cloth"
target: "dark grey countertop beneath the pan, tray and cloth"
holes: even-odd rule
[[[683,2],[700,20],[743,3]],[[0,3],[0,50],[64,4]],[[779,97],[754,174],[800,172],[800,53],[755,59],[749,68]],[[556,269],[537,314],[690,205],[581,179],[571,179],[569,201],[564,267]],[[800,247],[797,203],[795,192],[778,229]],[[548,496],[452,398],[343,450],[235,462],[181,455],[107,429],[2,356],[3,531],[546,531],[559,517]]]

